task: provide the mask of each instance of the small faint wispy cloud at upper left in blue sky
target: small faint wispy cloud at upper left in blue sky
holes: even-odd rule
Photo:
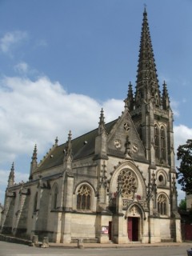
[[[27,38],[25,31],[12,31],[7,32],[2,38],[0,38],[0,50],[4,53],[10,53],[13,46],[18,45],[22,40]]]

